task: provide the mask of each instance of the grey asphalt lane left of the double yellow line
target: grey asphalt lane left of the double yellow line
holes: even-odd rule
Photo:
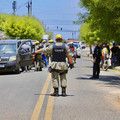
[[[0,120],[30,120],[47,71],[0,76]]]

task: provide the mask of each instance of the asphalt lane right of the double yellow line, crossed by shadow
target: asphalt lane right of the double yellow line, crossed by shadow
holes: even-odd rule
[[[100,80],[90,80],[91,75],[91,60],[77,60],[68,75],[68,97],[55,98],[53,120],[120,120],[119,84],[110,82],[120,77],[110,71],[102,71]]]

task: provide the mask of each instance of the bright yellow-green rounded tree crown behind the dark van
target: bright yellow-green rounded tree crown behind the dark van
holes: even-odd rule
[[[45,29],[34,17],[0,15],[0,30],[12,38],[41,40]]]

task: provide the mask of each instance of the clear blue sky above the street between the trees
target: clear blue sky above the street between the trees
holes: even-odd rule
[[[12,13],[13,0],[0,0],[0,13]],[[17,15],[27,15],[26,2],[28,0],[16,0]],[[40,19],[49,31],[54,34],[61,33],[65,39],[77,38],[80,26],[74,25],[77,14],[80,12],[79,0],[32,0],[33,15]],[[58,29],[57,29],[58,26]],[[62,32],[56,31],[62,28]],[[68,32],[69,31],[69,32]],[[73,31],[73,32],[72,32]]]

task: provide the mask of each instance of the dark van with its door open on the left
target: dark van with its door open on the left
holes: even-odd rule
[[[27,48],[28,46],[28,48]],[[32,64],[31,40],[0,40],[0,71],[20,73]]]

